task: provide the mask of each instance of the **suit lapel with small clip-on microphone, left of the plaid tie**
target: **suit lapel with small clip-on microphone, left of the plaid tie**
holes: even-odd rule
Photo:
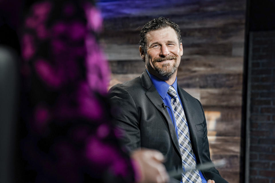
[[[142,85],[144,88],[148,89],[147,92],[145,92],[145,95],[148,97],[148,99],[152,102],[152,104],[154,104],[154,106],[163,114],[163,116],[166,119],[166,123],[169,129],[169,133],[170,133],[170,137],[172,139],[172,142],[174,144],[174,146],[177,149],[177,153],[178,155],[181,157],[180,155],[180,147],[178,144],[178,138],[176,136],[176,131],[174,128],[174,125],[172,123],[172,120],[169,116],[169,113],[166,109],[162,108],[162,99],[158,93],[158,91],[156,90],[155,86],[153,85],[147,71],[145,70],[142,75],[140,76],[140,79],[142,80]]]

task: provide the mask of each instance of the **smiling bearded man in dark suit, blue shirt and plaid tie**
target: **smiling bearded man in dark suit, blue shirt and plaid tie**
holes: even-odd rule
[[[123,143],[130,151],[159,150],[166,156],[168,172],[183,169],[178,178],[182,182],[227,183],[215,168],[185,171],[211,159],[201,103],[177,84],[183,54],[178,25],[163,17],[153,19],[140,36],[146,70],[109,91],[112,104],[119,109],[115,122],[125,131]]]

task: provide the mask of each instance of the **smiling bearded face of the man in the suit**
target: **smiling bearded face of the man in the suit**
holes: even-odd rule
[[[140,48],[140,55],[145,59],[146,69],[150,73],[162,78],[176,74],[183,49],[174,29],[166,27],[148,32],[146,48],[146,53]]]

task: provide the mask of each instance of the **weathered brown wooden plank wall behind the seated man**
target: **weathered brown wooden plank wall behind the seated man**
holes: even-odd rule
[[[111,69],[110,87],[139,76],[139,32],[156,17],[176,22],[184,49],[178,83],[203,104],[212,160],[231,183],[239,182],[245,0],[102,0],[100,43]]]

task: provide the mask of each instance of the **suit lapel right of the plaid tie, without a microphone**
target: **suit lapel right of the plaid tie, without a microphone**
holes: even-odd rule
[[[189,133],[190,133],[190,140],[192,144],[192,150],[196,156],[197,161],[201,159],[199,156],[201,154],[201,147],[198,145],[198,138],[197,138],[197,128],[196,124],[197,122],[193,118],[193,115],[196,114],[191,114],[190,112],[190,107],[192,107],[192,104],[187,100],[187,98],[184,95],[185,91],[178,87],[178,95],[180,96],[181,102],[182,102],[182,107],[184,110],[184,114],[188,123],[188,128],[189,128]],[[200,152],[200,153],[199,153]]]

